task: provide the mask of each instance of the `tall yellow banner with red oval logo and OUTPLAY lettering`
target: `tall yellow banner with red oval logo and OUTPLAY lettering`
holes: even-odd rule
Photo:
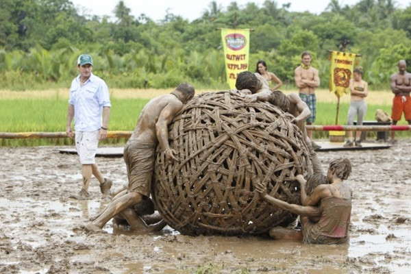
[[[236,88],[238,73],[248,70],[249,37],[249,29],[221,29],[229,88]]]

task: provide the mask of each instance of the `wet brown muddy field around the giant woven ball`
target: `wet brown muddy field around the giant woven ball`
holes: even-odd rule
[[[355,189],[349,245],[303,245],[256,236],[180,235],[170,227],[135,234],[82,226],[106,204],[81,188],[77,155],[67,147],[0,148],[0,273],[411,273],[411,140],[381,150],[319,152],[353,163]],[[119,186],[123,158],[97,158]]]

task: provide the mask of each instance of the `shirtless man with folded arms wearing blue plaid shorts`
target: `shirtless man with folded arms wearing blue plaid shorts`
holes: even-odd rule
[[[311,66],[311,53],[304,51],[301,54],[301,66],[294,71],[295,85],[298,88],[299,97],[306,102],[310,108],[311,116],[307,119],[307,125],[315,122],[316,115],[316,97],[315,88],[320,86],[319,71]],[[307,131],[307,136],[312,140],[312,131]],[[319,145],[313,142],[314,150],[319,149]]]

